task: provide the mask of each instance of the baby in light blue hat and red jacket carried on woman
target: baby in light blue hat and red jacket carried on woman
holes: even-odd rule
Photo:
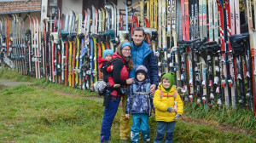
[[[112,54],[113,49],[105,49],[103,51],[103,58],[101,56],[98,57],[99,69],[102,71],[102,77],[105,83],[109,83],[113,88],[119,88],[120,84],[115,84],[113,82],[113,66],[110,66],[112,62]]]

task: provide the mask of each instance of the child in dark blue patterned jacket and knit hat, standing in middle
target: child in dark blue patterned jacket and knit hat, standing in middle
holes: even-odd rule
[[[149,142],[150,128],[148,116],[150,116],[153,106],[153,96],[150,97],[148,90],[150,87],[147,79],[148,69],[145,66],[137,66],[134,83],[131,84],[125,109],[125,117],[132,115],[131,142],[139,141],[139,132],[143,134],[143,140]]]

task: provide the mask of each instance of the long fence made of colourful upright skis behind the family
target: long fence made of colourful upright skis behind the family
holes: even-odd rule
[[[208,2],[208,3],[207,3]],[[24,75],[94,90],[102,79],[97,57],[135,27],[145,31],[162,72],[175,73],[184,102],[207,109],[244,108],[255,113],[256,32],[251,0],[243,3],[247,32],[241,33],[239,0],[149,0],[70,11],[38,20],[25,29],[16,14],[0,15],[1,64]],[[254,10],[256,12],[256,10]],[[128,19],[130,18],[130,19]],[[254,24],[253,24],[254,23]]]

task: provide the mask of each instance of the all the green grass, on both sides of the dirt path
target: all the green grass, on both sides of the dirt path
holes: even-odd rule
[[[99,142],[104,108],[101,102],[84,98],[96,94],[9,70],[0,70],[0,75],[4,79],[22,79],[33,83],[33,86],[22,84],[9,88],[0,85],[3,87],[0,91],[0,142]],[[111,142],[119,142],[120,112],[113,121]],[[179,120],[174,131],[174,142],[256,142],[255,117],[251,112],[206,111],[202,106],[187,105],[183,117],[199,122],[203,119],[215,124],[230,124],[253,133],[243,134],[234,129],[218,129],[211,123]],[[154,139],[157,128],[154,115],[149,117],[149,125]]]

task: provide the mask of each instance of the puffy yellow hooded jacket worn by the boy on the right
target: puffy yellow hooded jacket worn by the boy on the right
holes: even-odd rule
[[[176,114],[183,114],[183,100],[181,100],[179,94],[177,94],[175,101],[177,101],[177,112],[167,112],[168,106],[174,106],[174,97],[160,97],[160,89],[163,95],[173,95],[176,90],[173,86],[172,89],[167,93],[166,89],[162,86],[162,83],[158,86],[158,89],[154,93],[154,107],[155,107],[155,120],[163,122],[176,121]]]

